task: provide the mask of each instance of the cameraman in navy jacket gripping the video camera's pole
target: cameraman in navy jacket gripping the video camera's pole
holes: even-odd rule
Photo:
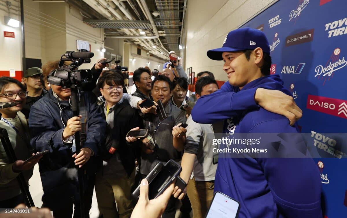
[[[55,72],[50,75],[55,75]],[[49,149],[49,154],[39,164],[44,192],[42,201],[56,218],[71,217],[73,204],[77,216],[80,200],[84,201],[85,213],[88,214],[96,171],[93,162],[106,127],[96,97],[91,92],[82,91],[79,102],[84,100],[87,112],[86,139],[76,154],[74,135],[82,130],[82,116],[73,116],[70,97],[69,87],[51,84],[49,93],[32,106],[29,114],[31,145],[37,151]],[[77,167],[83,167],[84,171],[84,199],[79,199]]]

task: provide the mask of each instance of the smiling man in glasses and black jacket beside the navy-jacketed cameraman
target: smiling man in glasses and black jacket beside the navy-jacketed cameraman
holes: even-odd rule
[[[96,198],[104,218],[130,217],[133,211],[130,194],[135,179],[135,149],[139,145],[128,144],[125,137],[129,130],[142,127],[143,121],[123,98],[124,78],[119,73],[104,71],[98,87],[105,99],[100,108],[108,131],[105,143],[101,145],[103,166],[96,176]]]

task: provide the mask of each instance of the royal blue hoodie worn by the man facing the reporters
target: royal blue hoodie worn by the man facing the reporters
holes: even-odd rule
[[[197,123],[228,119],[223,132],[230,135],[297,132],[285,116],[255,104],[257,88],[290,95],[277,75],[256,79],[242,90],[226,82],[220,90],[197,101],[192,118]],[[322,217],[322,187],[312,158],[221,158],[220,155],[214,185],[214,191],[240,203],[240,218]]]

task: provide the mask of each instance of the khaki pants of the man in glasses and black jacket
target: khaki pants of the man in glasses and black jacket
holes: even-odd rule
[[[127,175],[117,178],[96,176],[95,193],[100,215],[102,214],[104,218],[130,217],[133,212],[133,202],[130,194],[134,180],[135,171],[129,178]]]

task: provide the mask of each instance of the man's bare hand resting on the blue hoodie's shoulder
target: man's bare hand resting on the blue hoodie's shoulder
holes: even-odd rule
[[[286,116],[290,121],[290,125],[294,125],[303,115],[302,110],[295,104],[293,97],[279,90],[257,88],[254,99],[265,110]]]

